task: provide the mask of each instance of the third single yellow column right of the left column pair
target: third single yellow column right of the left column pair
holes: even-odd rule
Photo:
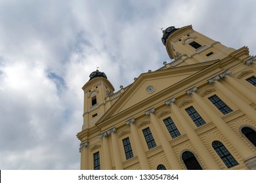
[[[173,115],[179,120],[179,124],[182,126],[182,129],[185,131],[186,135],[188,136],[188,139],[193,144],[194,148],[196,148],[198,154],[200,155],[200,158],[202,158],[203,163],[205,163],[205,166],[207,169],[210,170],[216,170],[220,169],[217,165],[216,161],[213,159],[207,148],[204,146],[201,139],[196,134],[196,131],[192,129],[190,124],[186,123],[186,118],[183,116],[177,105],[175,104],[175,99],[170,99],[169,101],[165,102],[167,105],[170,105],[171,110],[173,111]]]

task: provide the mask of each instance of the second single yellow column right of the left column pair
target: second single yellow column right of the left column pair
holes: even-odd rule
[[[165,131],[161,128],[160,122],[158,121],[158,118],[156,117],[156,114],[154,114],[155,110],[154,108],[146,111],[146,115],[150,116],[150,121],[153,124],[154,129],[157,132],[158,139],[161,140],[161,147],[163,148],[163,152],[165,152],[165,156],[168,159],[171,167],[174,170],[181,170],[181,165],[178,161],[177,156],[175,155],[175,152],[173,151],[173,148],[171,148],[171,145],[166,137]]]

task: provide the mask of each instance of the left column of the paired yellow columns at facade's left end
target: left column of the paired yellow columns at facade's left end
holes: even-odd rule
[[[108,143],[108,133],[104,132],[100,134],[100,139],[102,139],[103,143],[103,162],[104,162],[104,169],[105,170],[111,170],[112,169],[112,163],[111,163],[111,156],[110,156],[110,144]]]

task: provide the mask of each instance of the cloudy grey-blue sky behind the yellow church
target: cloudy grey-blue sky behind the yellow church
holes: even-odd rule
[[[163,29],[256,53],[256,1],[0,0],[0,169],[79,169],[83,90],[98,69],[116,92],[170,62]]]

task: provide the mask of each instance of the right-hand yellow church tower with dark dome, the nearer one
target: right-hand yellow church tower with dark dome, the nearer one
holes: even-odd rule
[[[222,59],[234,52],[218,41],[214,41],[192,29],[192,25],[179,29],[171,26],[163,30],[163,45],[171,59],[179,59],[181,65]]]

